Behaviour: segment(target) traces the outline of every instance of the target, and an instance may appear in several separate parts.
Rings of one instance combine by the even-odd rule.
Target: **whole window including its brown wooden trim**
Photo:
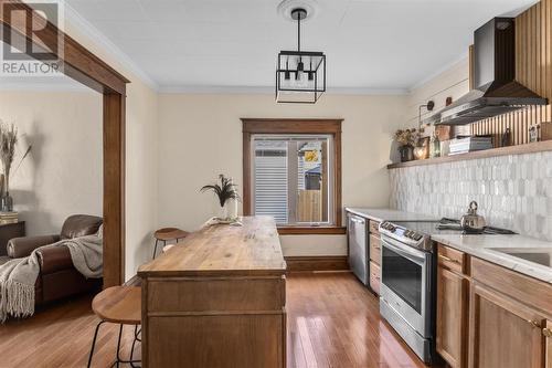
[[[341,225],[340,120],[244,122],[244,213],[278,228]]]

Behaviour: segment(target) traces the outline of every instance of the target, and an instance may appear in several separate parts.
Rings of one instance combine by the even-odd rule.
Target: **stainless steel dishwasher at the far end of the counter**
[[[368,286],[368,220],[352,213],[347,218],[347,241],[349,243],[349,266],[354,275]]]

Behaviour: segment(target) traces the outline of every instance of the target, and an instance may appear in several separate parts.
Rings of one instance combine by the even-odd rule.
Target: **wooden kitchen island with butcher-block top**
[[[269,217],[205,227],[142,265],[144,367],[284,367],[285,272]]]

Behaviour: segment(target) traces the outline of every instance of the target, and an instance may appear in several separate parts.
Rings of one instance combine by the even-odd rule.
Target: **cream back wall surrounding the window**
[[[242,185],[242,117],[343,118],[342,202],[389,204],[391,138],[405,96],[326,95],[316,105],[276,104],[274,96],[161,94],[159,223],[198,229],[217,213],[199,189],[225,174]],[[346,254],[343,235],[282,236],[286,255]]]

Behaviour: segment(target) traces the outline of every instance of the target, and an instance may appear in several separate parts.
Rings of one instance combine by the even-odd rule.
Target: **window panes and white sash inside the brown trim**
[[[254,214],[279,224],[330,224],[331,168],[327,135],[253,135]]]

